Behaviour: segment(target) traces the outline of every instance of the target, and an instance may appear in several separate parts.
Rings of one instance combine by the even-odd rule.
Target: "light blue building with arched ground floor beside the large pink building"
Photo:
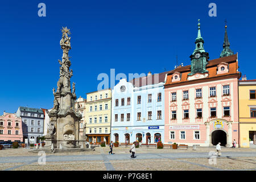
[[[164,143],[164,83],[168,72],[126,79],[112,90],[111,140]]]

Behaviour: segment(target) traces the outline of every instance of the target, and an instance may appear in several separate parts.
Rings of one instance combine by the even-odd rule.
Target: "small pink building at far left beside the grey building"
[[[0,116],[0,141],[23,142],[22,119],[16,114],[3,113]]]

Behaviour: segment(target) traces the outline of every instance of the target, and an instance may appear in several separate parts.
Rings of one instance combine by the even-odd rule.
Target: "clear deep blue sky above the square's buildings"
[[[46,4],[46,17],[38,4]],[[217,17],[208,16],[209,3]],[[71,29],[69,51],[77,97],[97,90],[100,73],[152,73],[190,64],[197,19],[205,51],[216,59],[222,51],[224,21],[230,48],[238,52],[242,74],[255,75],[256,1],[1,1],[0,114],[19,106],[51,108],[59,78],[61,27]],[[116,82],[117,83],[117,82]]]

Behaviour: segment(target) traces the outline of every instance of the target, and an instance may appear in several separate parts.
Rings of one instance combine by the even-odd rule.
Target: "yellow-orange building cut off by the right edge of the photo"
[[[239,83],[239,117],[241,147],[256,147],[256,80]]]

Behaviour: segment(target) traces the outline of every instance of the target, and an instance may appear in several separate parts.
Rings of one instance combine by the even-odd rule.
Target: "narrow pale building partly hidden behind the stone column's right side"
[[[83,133],[83,129],[85,126],[85,104],[86,104],[86,99],[82,98],[81,96],[76,100],[75,103],[75,110],[78,110],[80,114],[82,114],[82,119],[79,123],[79,134],[80,136]]]

